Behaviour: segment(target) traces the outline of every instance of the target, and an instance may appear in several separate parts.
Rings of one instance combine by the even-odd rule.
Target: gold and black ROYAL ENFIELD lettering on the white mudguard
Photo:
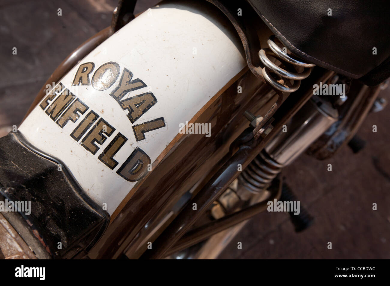
[[[92,62],[81,64],[73,79],[72,86],[92,86],[97,91],[115,86],[110,96],[124,112],[128,111],[126,115],[137,142],[145,139],[145,133],[165,126],[163,117],[137,124],[137,120],[157,103],[157,99],[152,92],[123,99],[127,93],[147,87],[145,82],[138,78],[133,79],[133,73],[127,68],[123,68],[120,75],[121,68],[118,63],[113,61],[101,65],[90,78],[94,68],[95,64]],[[39,106],[60,128],[64,128],[69,121],[77,123],[78,125],[71,132],[70,137],[91,154],[99,153],[98,159],[111,170],[117,167],[119,162],[114,160],[113,157],[128,138],[121,132],[112,136],[115,128],[82,102],[64,84],[59,82]],[[111,141],[103,150],[101,146],[106,140]],[[149,156],[137,147],[122,162],[117,174],[127,181],[138,181],[147,174],[150,163]]]

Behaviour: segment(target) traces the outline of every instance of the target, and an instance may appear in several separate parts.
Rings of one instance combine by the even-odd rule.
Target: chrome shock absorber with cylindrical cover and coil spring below
[[[246,167],[238,179],[251,192],[259,192],[307,147],[337,121],[339,113],[332,105],[313,95],[287,123],[287,132],[278,133]]]

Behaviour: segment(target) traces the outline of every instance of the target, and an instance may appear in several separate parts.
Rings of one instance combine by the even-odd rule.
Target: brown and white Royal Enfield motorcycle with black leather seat
[[[0,138],[2,253],[216,258],[262,211],[308,228],[282,169],[359,151],[390,76],[388,4],[327,4],[120,0]]]

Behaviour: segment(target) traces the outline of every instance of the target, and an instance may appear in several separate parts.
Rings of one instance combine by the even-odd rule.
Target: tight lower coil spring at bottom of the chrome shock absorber
[[[264,189],[280,173],[283,167],[263,150],[241,172],[238,179],[248,191],[257,193]]]

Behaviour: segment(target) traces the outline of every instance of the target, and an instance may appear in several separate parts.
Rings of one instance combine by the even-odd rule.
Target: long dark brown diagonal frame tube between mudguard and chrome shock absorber
[[[255,139],[250,145],[241,146],[240,149],[230,158],[230,160],[218,170],[218,172],[207,182],[206,186],[197,194],[193,200],[188,202],[183,211],[176,217],[176,219],[165,229],[160,237],[154,242],[154,250],[144,254],[143,258],[159,259],[166,256],[169,249],[174,246],[177,241],[190,229],[195,221],[205,212],[208,207],[225,191],[230,183],[239,175],[237,164],[240,163],[242,168],[245,168],[257,154],[266,146],[266,144],[275,137],[282,126],[292,116],[299,111],[299,109],[312,96],[312,82],[326,81],[332,76],[333,72],[324,71],[318,68],[310,80],[302,82],[302,88],[290,95],[282,104],[282,106],[275,113],[277,121],[274,123],[273,130],[264,138]],[[216,192],[215,190],[218,189]],[[192,204],[196,202],[199,206],[196,212],[191,211]],[[229,225],[234,225],[241,222],[240,216],[229,217]],[[209,233],[210,235],[214,234]],[[208,235],[202,233],[204,237]],[[196,238],[196,233],[193,237]],[[190,239],[191,240],[191,239]]]

